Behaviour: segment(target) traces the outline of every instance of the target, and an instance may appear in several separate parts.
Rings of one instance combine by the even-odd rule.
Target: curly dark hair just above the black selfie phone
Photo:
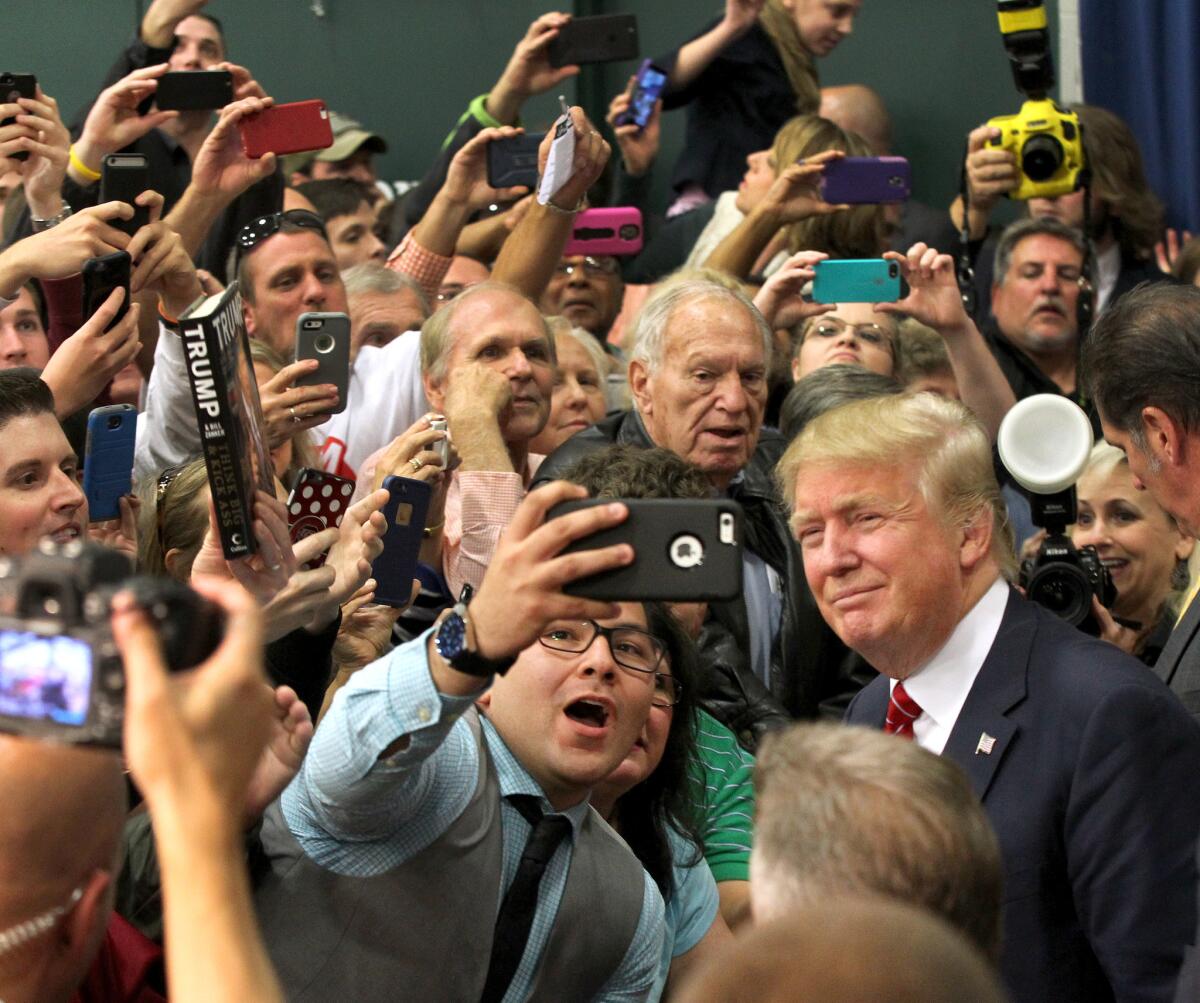
[[[562,473],[593,498],[712,498],[698,467],[658,446],[611,445],[581,456]]]

